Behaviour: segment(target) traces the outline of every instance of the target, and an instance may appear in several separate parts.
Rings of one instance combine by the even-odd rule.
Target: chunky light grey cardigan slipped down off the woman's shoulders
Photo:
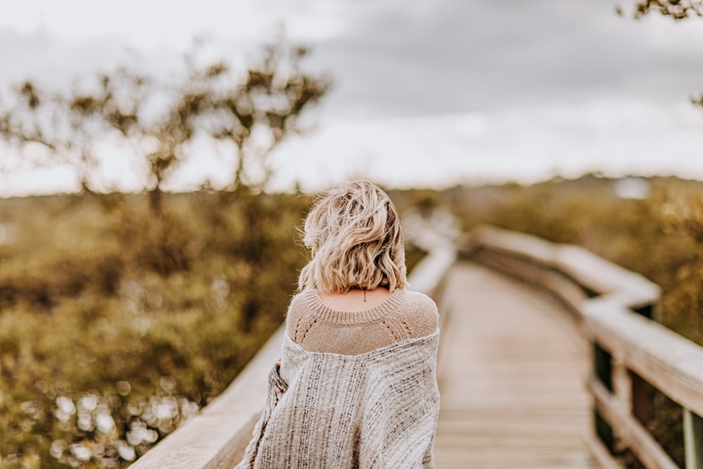
[[[237,469],[432,468],[439,330],[370,352],[309,352],[288,336]]]

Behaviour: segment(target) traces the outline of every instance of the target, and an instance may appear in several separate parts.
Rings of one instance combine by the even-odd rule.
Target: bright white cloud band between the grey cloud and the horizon
[[[703,178],[703,118],[690,106],[636,101],[437,117],[340,119],[276,153],[282,188],[349,176],[389,186],[531,183],[584,172]]]

